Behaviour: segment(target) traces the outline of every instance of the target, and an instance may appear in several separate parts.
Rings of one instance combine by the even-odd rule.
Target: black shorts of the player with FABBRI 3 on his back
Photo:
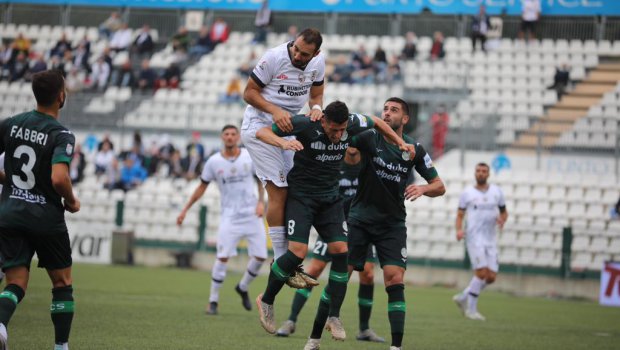
[[[67,231],[54,234],[35,234],[0,229],[0,255],[2,270],[25,266],[30,269],[34,253],[39,258],[39,267],[58,270],[70,267],[71,243]]]

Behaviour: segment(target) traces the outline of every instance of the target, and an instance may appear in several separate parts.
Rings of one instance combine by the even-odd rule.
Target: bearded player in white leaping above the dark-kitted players
[[[308,116],[313,121],[321,118],[325,76],[325,56],[320,51],[322,42],[321,33],[308,28],[294,41],[267,50],[252,71],[243,93],[248,106],[243,115],[241,138],[254,161],[256,175],[267,189],[266,216],[275,259],[286,253],[288,247],[284,234],[284,205],[286,176],[293,167],[294,152],[261,142],[256,132],[273,123],[284,132],[292,131],[291,115],[298,114],[306,103],[310,107]],[[297,288],[308,287],[308,283],[318,284],[305,274],[297,276],[303,279],[289,279],[287,283]]]

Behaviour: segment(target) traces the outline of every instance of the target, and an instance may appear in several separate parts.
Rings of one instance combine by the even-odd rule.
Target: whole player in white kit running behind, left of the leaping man
[[[248,241],[250,261],[235,291],[241,296],[246,310],[252,310],[248,296],[248,286],[258,275],[260,267],[267,259],[267,236],[261,219],[264,212],[264,189],[258,183],[258,198],[254,192],[254,166],[248,151],[239,147],[239,130],[236,126],[226,125],[222,129],[224,149],[214,154],[200,175],[198,185],[189,201],[179,214],[177,224],[183,224],[185,215],[191,206],[207,190],[211,181],[220,189],[222,218],[217,233],[217,259],[211,271],[211,295],[207,313],[217,314],[219,291],[226,277],[226,263],[237,255],[237,244],[245,238]]]

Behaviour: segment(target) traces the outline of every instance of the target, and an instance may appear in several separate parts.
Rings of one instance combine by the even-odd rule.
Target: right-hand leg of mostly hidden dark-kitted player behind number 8
[[[370,328],[370,315],[372,313],[372,305],[375,290],[375,262],[377,261],[376,250],[373,245],[368,247],[368,256],[364,271],[360,271],[360,287],[357,292],[358,308],[359,308],[359,330],[356,339],[363,341],[373,341],[383,343],[385,339],[379,337]]]

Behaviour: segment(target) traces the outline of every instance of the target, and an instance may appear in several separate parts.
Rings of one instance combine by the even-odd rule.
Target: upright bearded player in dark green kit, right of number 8
[[[349,212],[349,272],[364,268],[368,245],[373,244],[388,294],[390,350],[401,349],[405,329],[403,278],[407,266],[407,213],[404,202],[422,195],[441,196],[446,191],[424,148],[403,136],[403,127],[409,120],[408,109],[405,101],[392,97],[385,102],[381,117],[406,142],[415,144],[415,157],[403,153],[391,140],[372,131],[359,135],[352,142],[362,153],[362,170]],[[414,169],[428,184],[410,183]]]

